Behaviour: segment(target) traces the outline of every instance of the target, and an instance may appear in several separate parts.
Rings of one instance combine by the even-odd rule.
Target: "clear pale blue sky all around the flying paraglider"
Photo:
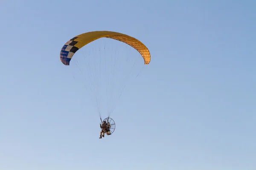
[[[255,0],[1,0],[0,23],[0,170],[256,169]],[[94,30],[152,57],[104,139],[59,59]]]

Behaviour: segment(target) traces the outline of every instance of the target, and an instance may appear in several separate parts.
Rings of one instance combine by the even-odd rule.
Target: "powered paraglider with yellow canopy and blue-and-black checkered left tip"
[[[112,41],[105,43],[103,48],[95,50],[96,42],[103,38],[112,39]],[[117,48],[113,48],[112,44],[117,42],[128,45],[130,51],[133,48],[134,52],[139,52],[140,57],[137,57],[138,54],[130,57],[128,55],[130,51],[127,54],[121,54],[123,50],[117,51]],[[100,119],[102,118],[102,105],[108,108],[108,111],[106,111],[108,117],[104,120],[110,123],[110,130],[113,133],[115,122],[109,116],[113,112],[131,74],[135,72],[135,78],[140,74],[141,69],[138,71],[135,67],[142,64],[148,65],[151,61],[151,55],[148,48],[134,37],[113,31],[91,31],[73,37],[63,45],[60,52],[61,62],[64,65],[70,65],[74,54],[77,54],[82,47],[88,48],[90,45],[99,56],[91,54],[90,50],[87,50],[84,58],[77,58],[80,61],[75,62],[74,65],[79,68],[78,72],[82,75],[84,87],[87,89],[93,103],[96,104]],[[109,55],[106,52],[108,45],[112,45],[109,50],[111,54]],[[103,52],[101,53],[101,51]],[[143,59],[144,63],[142,61],[137,62],[140,59]]]

